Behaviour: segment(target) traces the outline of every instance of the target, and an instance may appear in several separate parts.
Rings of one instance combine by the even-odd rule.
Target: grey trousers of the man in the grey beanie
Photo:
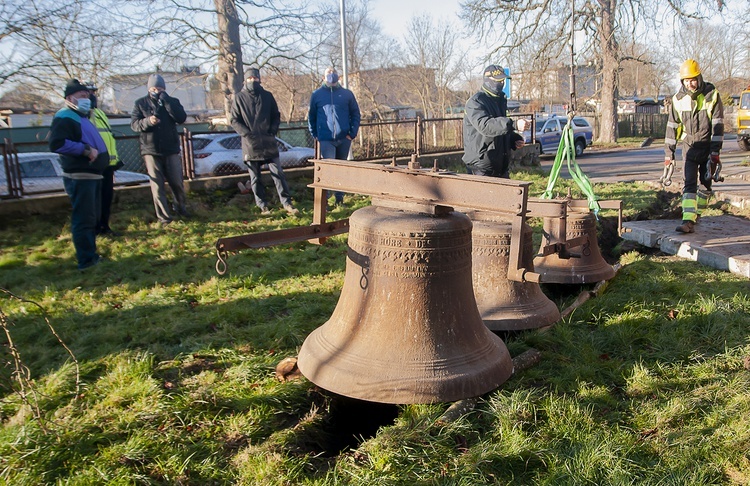
[[[174,197],[174,208],[185,212],[185,186],[182,178],[182,160],[180,154],[173,155],[144,155],[146,171],[151,179],[151,198],[154,200],[156,219],[162,223],[172,221],[169,214],[169,202],[164,183],[169,184]]]

